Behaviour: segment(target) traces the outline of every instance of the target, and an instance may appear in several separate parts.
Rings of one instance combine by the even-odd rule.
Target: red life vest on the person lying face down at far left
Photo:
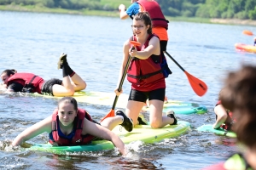
[[[43,82],[42,77],[38,77],[32,73],[15,73],[12,77],[9,77],[7,86],[11,82],[19,82],[24,88],[32,88],[32,93],[37,92],[38,85]],[[39,94],[41,92],[38,92]]]

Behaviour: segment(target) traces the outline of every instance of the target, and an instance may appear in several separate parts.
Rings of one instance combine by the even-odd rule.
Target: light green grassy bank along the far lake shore
[[[95,16],[108,16],[119,17],[118,6],[120,0],[102,0],[102,4],[107,4],[110,9],[108,10],[94,10],[90,8],[81,9],[67,9],[67,8],[48,8],[42,3],[35,5],[24,5],[23,3],[16,4],[10,3],[6,5],[0,5],[2,11],[22,11],[22,12],[37,12],[37,13],[53,13],[53,14],[81,14],[81,15],[95,15]],[[125,1],[124,4],[128,7],[130,1]],[[113,10],[117,7],[116,10]],[[196,23],[212,23],[212,24],[229,24],[229,25],[248,25],[256,26],[256,20],[239,20],[239,19],[217,19],[217,18],[201,18],[201,17],[188,17],[188,16],[166,16],[167,20],[172,21],[186,21]]]

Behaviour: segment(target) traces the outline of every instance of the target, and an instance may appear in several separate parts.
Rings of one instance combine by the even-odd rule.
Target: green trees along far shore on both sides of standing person
[[[256,0],[157,0],[157,2],[167,16],[256,20]],[[7,4],[89,10],[118,8],[118,5],[102,4],[101,0],[0,0],[0,5]]]

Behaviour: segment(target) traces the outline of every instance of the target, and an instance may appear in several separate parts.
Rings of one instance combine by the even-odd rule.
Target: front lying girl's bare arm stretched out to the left
[[[38,136],[41,133],[51,132],[51,121],[52,116],[45,118],[43,121],[37,122],[36,124],[32,125],[32,127],[26,128],[22,133],[20,133],[13,141],[13,146],[18,146],[25,142],[28,139],[32,139]]]

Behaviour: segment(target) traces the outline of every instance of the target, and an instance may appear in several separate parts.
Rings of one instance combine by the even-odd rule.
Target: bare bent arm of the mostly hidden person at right
[[[228,114],[223,105],[216,105],[214,108],[214,112],[217,116],[217,120],[212,127],[218,128],[226,121],[226,119],[228,118]]]

